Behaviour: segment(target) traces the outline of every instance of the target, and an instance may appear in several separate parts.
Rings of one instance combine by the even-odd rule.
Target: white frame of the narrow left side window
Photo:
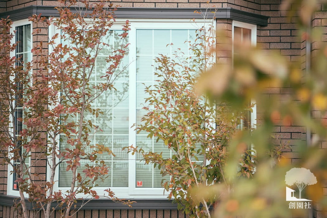
[[[28,21],[28,19],[24,19],[24,20],[20,20],[20,21],[14,21],[12,26],[11,26],[11,29],[10,29],[10,34],[14,34],[14,31],[16,30],[16,27],[18,26],[24,26],[24,25],[28,25],[30,24],[31,26],[31,47],[33,47],[33,34],[32,34],[32,31],[33,31],[33,24],[31,21]],[[16,43],[16,34],[15,36],[11,39],[11,43]],[[12,51],[10,52],[10,57],[14,57],[16,56],[16,49],[15,51]],[[31,52],[31,58],[33,58],[32,56],[32,52]],[[10,116],[9,119],[12,121],[12,117]],[[10,122],[10,127],[12,125],[12,122]],[[31,159],[29,158],[29,165],[31,164]],[[8,164],[8,184],[7,184],[7,194],[8,195],[13,195],[13,196],[19,196],[19,191],[18,190],[13,190],[12,189],[12,184],[14,182],[14,179],[13,179],[13,173],[10,173],[11,171],[13,171],[13,168],[10,164]],[[24,196],[25,197],[28,197],[28,194],[24,193]]]

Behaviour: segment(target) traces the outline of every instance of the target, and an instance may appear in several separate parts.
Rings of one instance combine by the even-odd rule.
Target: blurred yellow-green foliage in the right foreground
[[[286,57],[271,50],[234,42],[238,54],[234,55],[233,66],[215,65],[199,77],[198,93],[206,93],[211,100],[229,102],[235,109],[254,100],[260,112],[256,128],[242,131],[230,141],[230,155],[224,166],[228,182],[195,191],[206,194],[205,197],[221,196],[216,203],[215,217],[308,217],[310,210],[291,210],[285,201],[285,174],[295,166],[310,169],[318,180],[317,184],[306,187],[302,196],[318,203],[319,210],[327,210],[327,197],[323,195],[327,149],[321,149],[322,142],[327,140],[326,123],[312,116],[314,113],[324,118],[327,109],[327,47],[322,42],[326,27],[311,28],[312,17],[316,13],[326,14],[326,11],[316,12],[325,7],[325,2],[318,0],[286,0],[281,6],[292,19],[297,19],[299,42],[319,48],[308,53],[307,61],[311,64],[307,62],[307,68],[301,66],[303,59],[288,62]],[[269,87],[287,87],[287,93],[271,96],[266,92]],[[269,140],[274,126],[302,126],[303,133],[311,136],[308,142],[298,140],[292,146],[301,158],[296,165],[283,158],[272,162],[265,155],[275,146]],[[258,163],[251,179],[238,179],[235,171],[240,156],[237,148],[243,143],[252,144],[257,152]],[[286,157],[292,156],[286,154]]]

